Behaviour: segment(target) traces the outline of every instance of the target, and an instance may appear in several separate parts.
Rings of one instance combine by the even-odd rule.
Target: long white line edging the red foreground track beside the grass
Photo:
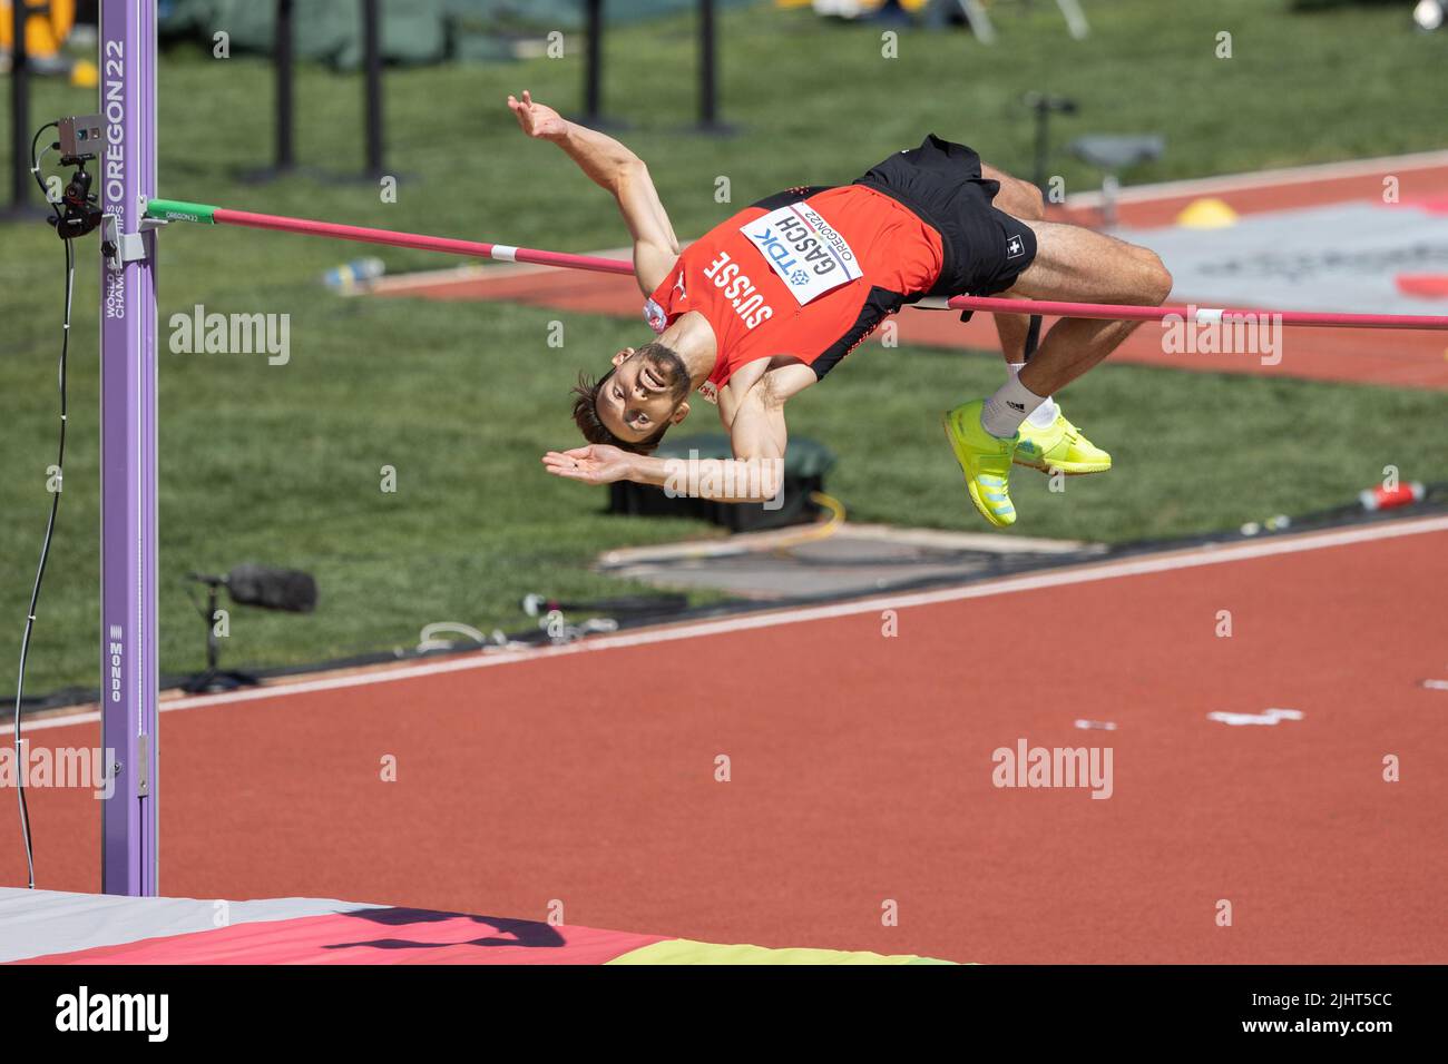
[[[193,698],[178,698],[162,702],[161,712],[178,709],[200,709],[216,705],[237,705],[240,702],[255,702],[258,699],[287,698],[290,695],[310,695],[319,691],[340,691],[345,688],[361,688],[369,683],[392,683],[410,680],[421,676],[440,676],[443,673],[465,672],[471,669],[491,669],[501,664],[517,664],[518,662],[537,662],[547,657],[562,657],[568,654],[597,654],[623,647],[640,647],[653,643],[672,643],[675,640],[699,638],[704,636],[724,636],[736,631],[752,631],[754,628],[773,628],[783,624],[802,624],[807,621],[824,621],[837,617],[854,617],[859,614],[873,614],[880,609],[911,609],[915,607],[940,605],[943,602],[960,602],[972,598],[988,598],[992,595],[1012,595],[1022,591],[1040,591],[1043,588],[1064,588],[1074,583],[1095,583],[1098,580],[1112,580],[1122,576],[1144,576],[1150,573],[1176,572],[1179,569],[1196,569],[1208,565],[1224,565],[1226,562],[1247,562],[1257,557],[1273,557],[1277,554],[1299,554],[1309,550],[1325,550],[1328,547],[1345,547],[1355,543],[1373,543],[1377,540],[1393,540],[1403,536],[1423,536],[1428,533],[1448,531],[1448,517],[1423,517],[1415,520],[1373,524],[1363,528],[1345,528],[1341,531],[1303,533],[1300,536],[1286,536],[1273,540],[1253,543],[1237,543],[1231,546],[1206,546],[1190,550],[1177,550],[1164,554],[1150,554],[1147,557],[1124,559],[1121,562],[1096,562],[1070,569],[1053,569],[1044,573],[1025,576],[1006,576],[998,580],[983,580],[957,588],[940,588],[937,591],[921,591],[902,595],[875,595],[866,599],[850,602],[833,602],[820,607],[796,607],[769,612],[749,614],[744,617],[728,617],[717,621],[698,621],[676,627],[646,628],[643,631],[621,633],[618,636],[604,636],[601,638],[584,640],[562,647],[539,647],[529,650],[511,650],[500,654],[453,657],[445,662],[430,662],[426,664],[403,666],[397,669],[374,669],[346,676],[326,676],[300,683],[284,683],[274,688],[253,688],[226,695],[197,695]],[[61,728],[72,724],[87,724],[100,719],[98,711],[83,711],[68,717],[49,717],[25,724],[25,734],[42,731],[45,728]],[[12,724],[0,727],[0,735],[10,734]]]

